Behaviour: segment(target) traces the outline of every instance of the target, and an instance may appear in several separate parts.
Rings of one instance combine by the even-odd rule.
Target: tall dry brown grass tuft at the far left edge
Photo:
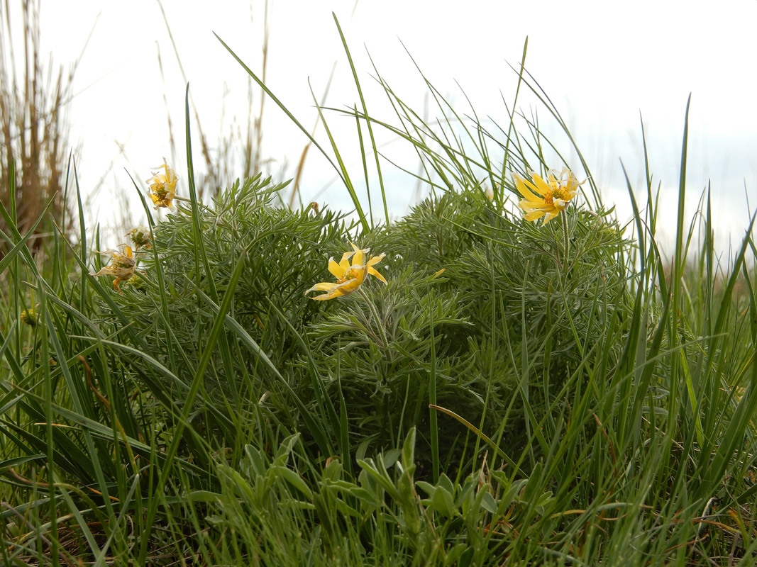
[[[9,0],[0,5],[0,200],[11,210],[15,187],[17,227],[21,234],[34,225],[52,200],[49,216],[36,228],[30,248],[39,249],[52,222],[70,228],[64,200],[67,173],[68,103],[76,64],[68,71],[52,58],[40,57],[39,0],[21,0],[20,21],[13,20]],[[20,33],[20,38],[17,39]],[[15,52],[22,48],[23,54]],[[11,164],[14,183],[11,183]],[[0,229],[8,226],[0,218]],[[0,256],[8,243],[0,242]]]

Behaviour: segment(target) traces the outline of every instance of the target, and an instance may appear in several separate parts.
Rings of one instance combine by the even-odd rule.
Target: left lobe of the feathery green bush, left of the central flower
[[[176,376],[192,375],[207,343],[210,329],[203,321],[213,313],[198,304],[198,290],[208,297],[223,296],[240,262],[231,316],[282,373],[298,354],[299,343],[288,332],[287,322],[301,328],[316,314],[316,305],[303,292],[322,277],[326,255],[344,247],[347,227],[329,211],[274,208],[271,203],[281,188],[269,179],[248,179],[220,194],[212,208],[200,209],[198,225],[210,272],[197,261],[195,227],[186,209],[168,215],[157,227],[152,249],[156,254],[145,251],[139,269],[154,283],[159,264],[168,290],[167,317],[151,287],[131,287],[115,298],[119,310],[129,311],[136,333],[161,353],[158,362],[169,366],[169,345],[180,349],[172,368]],[[273,384],[259,361],[240,351],[232,339],[228,348],[229,353],[219,347],[213,355],[204,388],[228,405],[229,412],[248,411],[249,401]]]

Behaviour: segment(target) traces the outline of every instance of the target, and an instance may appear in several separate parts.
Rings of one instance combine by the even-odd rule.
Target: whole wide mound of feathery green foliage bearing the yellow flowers
[[[431,445],[447,448],[437,457],[447,467],[459,465],[469,431],[445,417],[432,441],[429,403],[498,432],[519,450],[528,424],[536,426],[585,382],[582,345],[599,341],[609,318],[622,318],[631,305],[619,256],[624,242],[613,222],[570,212],[566,256],[564,235],[553,230],[559,225],[528,225],[471,189],[429,197],[397,225],[355,239],[387,255],[380,265],[386,287],[373,280],[360,293],[313,302],[304,291],[333,277],[326,259],[349,250],[352,228],[328,209],[273,206],[281,188],[260,178],[235,184],[199,209],[197,219],[179,206],[154,231],[151,249],[139,253],[140,277],[148,284],[136,280],[114,298],[154,349],[154,361],[170,366],[173,342],[180,352],[173,373],[192,376],[211,331],[202,321],[213,317],[198,293],[226,293],[240,270],[230,314],[290,389],[229,335],[217,344],[202,384],[226,419],[272,411],[288,430],[299,431],[306,426],[302,412],[318,415],[329,398],[347,423],[341,451],[372,454],[419,428],[425,470],[438,474]],[[207,262],[198,262],[197,225]],[[169,290],[170,325],[152,289],[155,262]],[[615,345],[603,344],[610,365],[617,364],[623,339],[617,333]],[[145,376],[154,361],[132,365]],[[156,393],[173,386],[164,378]],[[179,403],[183,394],[173,389],[173,395]],[[295,409],[292,396],[304,404]],[[195,426],[213,427],[199,414],[201,405],[192,412]],[[206,417],[219,419],[207,411]],[[333,447],[340,428],[332,423]],[[316,443],[313,457],[325,448]]]

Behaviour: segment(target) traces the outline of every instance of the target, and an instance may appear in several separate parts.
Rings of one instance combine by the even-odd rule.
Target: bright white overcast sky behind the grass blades
[[[669,201],[673,208],[669,224],[674,230],[689,93],[688,191],[693,206],[708,179],[712,180],[716,218],[724,231],[733,231],[734,240],[740,240],[746,226],[745,186],[752,209],[757,206],[755,0],[360,0],[354,14],[354,0],[269,2],[267,83],[308,129],[316,116],[308,80],[320,97],[335,61],[336,76],[327,104],[359,104],[332,11],[368,91],[369,110],[387,119],[391,110],[385,112],[385,96],[372,86],[366,49],[394,91],[419,112],[424,88],[402,44],[461,112],[468,109],[455,81],[479,116],[492,116],[504,125],[502,96],[511,102],[516,84],[507,62],[519,63],[528,36],[526,69],[565,116],[606,204],[618,205],[621,220],[629,208],[619,158],[634,186],[639,191],[643,188],[641,113],[651,170],[662,181],[665,203]],[[248,88],[245,71],[212,32],[260,73],[263,6],[260,0],[253,0],[252,7],[248,2],[164,0],[190,91],[211,142],[220,132],[222,112],[226,122],[232,116],[245,121]],[[76,73],[78,94],[71,118],[74,140],[83,147],[77,166],[85,191],[98,183],[115,160],[97,200],[98,220],[107,224],[111,215],[114,219],[122,216],[120,210],[111,211],[120,206],[110,200],[111,191],[132,187],[124,168],[137,180],[145,180],[150,168],[162,163],[161,156],[171,160],[167,113],[173,119],[179,149],[174,166],[182,178],[180,185],[185,181],[185,82],[156,0],[42,0],[42,48],[52,52],[56,63],[68,64],[78,57],[91,30]],[[165,81],[160,76],[158,51]],[[530,112],[528,106],[523,110]],[[330,123],[340,147],[357,146],[354,122],[331,116]],[[273,171],[283,163],[296,163],[304,135],[272,101],[266,101],[263,129],[263,153],[278,163]],[[326,143],[322,129],[316,137]],[[120,156],[120,144],[127,160]],[[567,144],[562,149],[567,151]],[[362,178],[357,155],[353,159],[353,175]],[[200,163],[195,141],[195,166]],[[305,174],[306,201],[334,175],[314,151]],[[391,209],[401,215],[414,204],[409,199],[414,184],[400,181],[399,176],[391,180],[400,185]],[[139,215],[136,195],[133,200]],[[338,184],[318,200],[351,209],[347,192]]]

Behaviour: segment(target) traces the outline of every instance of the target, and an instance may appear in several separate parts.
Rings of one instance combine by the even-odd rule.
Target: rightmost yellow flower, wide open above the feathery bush
[[[533,182],[515,172],[511,174],[516,182],[516,189],[525,197],[518,206],[525,212],[523,218],[527,221],[544,217],[545,225],[568,206],[568,201],[575,197],[578,186],[586,181],[584,179],[579,183],[567,167],[563,167],[560,172],[550,169],[547,181],[544,181],[536,172],[528,172],[528,174],[531,175]]]

